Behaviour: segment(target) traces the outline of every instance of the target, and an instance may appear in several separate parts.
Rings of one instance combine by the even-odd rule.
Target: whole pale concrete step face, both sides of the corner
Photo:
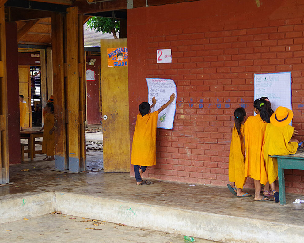
[[[92,194],[92,193],[91,193]],[[203,203],[203,202],[202,202]],[[279,222],[275,211],[274,219],[265,211],[262,202],[252,202],[264,211],[265,218],[254,218],[255,211],[248,211],[248,217],[190,210],[176,205],[157,205],[156,203],[119,200],[88,193],[44,192],[39,194],[18,194],[13,198],[0,200],[0,222],[11,222],[23,217],[30,218],[62,211],[74,215],[129,226],[158,230],[168,233],[192,235],[226,243],[269,243],[302,242],[304,225]],[[269,202],[268,202],[269,203]],[[254,205],[256,206],[256,205]],[[203,207],[202,207],[203,208]],[[267,217],[266,217],[267,215]],[[288,217],[288,216],[287,216]],[[302,218],[302,215],[299,215]]]

